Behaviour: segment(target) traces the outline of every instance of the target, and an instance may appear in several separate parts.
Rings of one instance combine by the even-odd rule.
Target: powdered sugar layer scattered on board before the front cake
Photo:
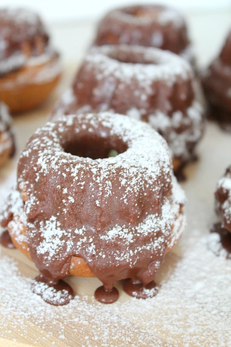
[[[161,276],[156,297],[126,297],[113,305],[102,305],[82,295],[64,307],[48,305],[31,293],[31,279],[18,272],[17,263],[1,255],[2,336],[11,336],[9,322],[15,320],[14,329],[24,326],[20,339],[28,337],[33,324],[42,335],[48,332],[48,341],[54,335],[68,346],[76,346],[77,339],[86,347],[118,346],[118,341],[120,346],[181,346],[182,341],[184,346],[230,346],[229,289],[225,283],[230,262],[209,252],[199,234],[199,230],[193,230],[182,258],[167,256],[165,278]],[[46,344],[44,340],[45,346],[52,346],[48,341]],[[31,342],[40,346],[41,340]]]

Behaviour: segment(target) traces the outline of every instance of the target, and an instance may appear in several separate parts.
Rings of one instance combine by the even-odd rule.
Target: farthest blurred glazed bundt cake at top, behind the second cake
[[[110,11],[99,23],[94,45],[128,44],[169,50],[195,65],[187,27],[170,7],[137,5]]]

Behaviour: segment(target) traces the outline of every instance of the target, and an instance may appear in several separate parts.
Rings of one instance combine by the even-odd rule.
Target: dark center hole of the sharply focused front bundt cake
[[[127,144],[117,136],[82,136],[64,144],[64,152],[83,158],[105,159],[127,150]]]

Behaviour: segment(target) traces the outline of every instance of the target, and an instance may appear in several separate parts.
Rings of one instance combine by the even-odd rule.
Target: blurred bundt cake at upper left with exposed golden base
[[[29,110],[59,81],[59,54],[41,19],[26,9],[0,9],[0,35],[0,99],[11,112]]]

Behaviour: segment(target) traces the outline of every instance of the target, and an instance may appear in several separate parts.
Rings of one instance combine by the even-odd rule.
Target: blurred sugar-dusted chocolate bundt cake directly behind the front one
[[[63,112],[110,110],[148,122],[166,139],[177,172],[192,159],[204,128],[194,82],[188,62],[174,53],[128,45],[94,47],[52,119]]]

